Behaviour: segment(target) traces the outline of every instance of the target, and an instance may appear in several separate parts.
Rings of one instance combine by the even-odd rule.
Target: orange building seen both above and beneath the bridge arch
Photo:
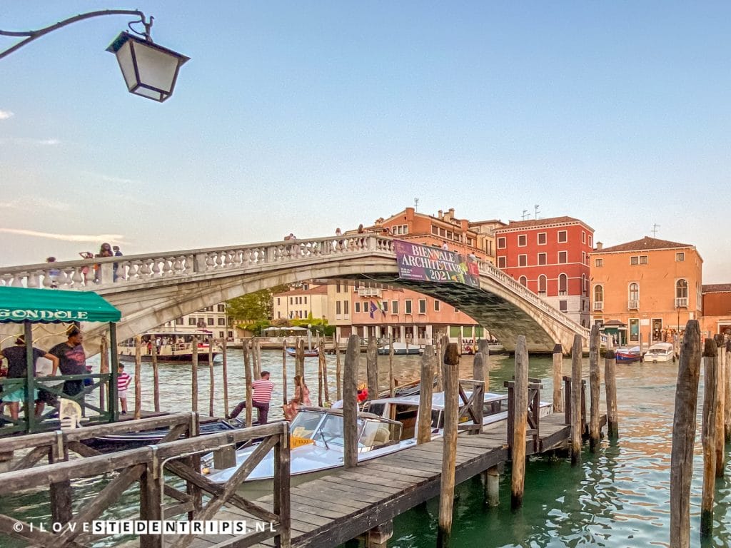
[[[450,251],[474,254],[483,261],[495,262],[493,229],[503,227],[497,220],[469,222],[455,218],[455,210],[441,210],[436,216],[406,208],[389,218],[379,218],[363,232],[381,232],[423,246],[446,247]],[[346,234],[357,232],[351,230]],[[445,302],[409,289],[382,289],[361,282],[351,293],[349,305],[351,326],[338,326],[338,337],[352,333],[361,337],[373,335],[424,344],[434,337],[448,335],[465,341],[485,338],[485,330],[465,313]]]

